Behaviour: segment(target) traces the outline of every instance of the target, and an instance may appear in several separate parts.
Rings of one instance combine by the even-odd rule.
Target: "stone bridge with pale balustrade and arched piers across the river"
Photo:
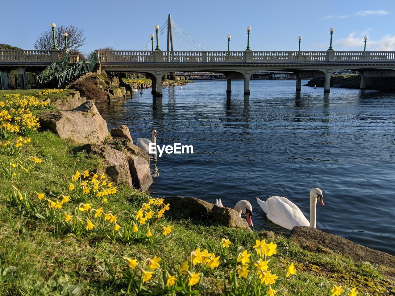
[[[173,72],[216,72],[227,79],[244,79],[244,94],[250,94],[250,77],[259,71],[295,73],[296,91],[302,77],[324,77],[324,92],[330,92],[334,72],[353,70],[361,73],[361,88],[366,77],[395,77],[393,51],[98,51],[90,61],[78,61],[66,51],[0,51],[0,71],[18,69],[41,71],[41,85],[57,79],[58,87],[76,75],[94,69],[147,73],[152,79],[152,94],[162,96],[162,77]],[[43,75],[43,73],[45,75]],[[40,76],[39,75],[39,76]]]

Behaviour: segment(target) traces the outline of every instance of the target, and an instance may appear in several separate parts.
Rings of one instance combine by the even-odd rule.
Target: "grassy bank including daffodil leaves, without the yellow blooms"
[[[6,102],[4,94],[10,92],[0,91],[0,101]],[[19,94],[23,93],[33,94],[30,90],[19,91]],[[51,108],[42,106],[30,109],[34,116]],[[0,107],[0,111],[4,109],[6,106]],[[18,136],[13,135],[8,141]],[[224,294],[225,281],[228,292],[232,285],[234,290],[240,291],[246,280],[243,276],[237,279],[239,287],[236,289],[234,283],[229,281],[232,277],[229,273],[236,272],[238,254],[245,250],[252,254],[251,262],[258,260],[253,246],[256,240],[263,239],[277,245],[275,254],[267,253],[262,258],[269,261],[271,274],[278,276],[276,283],[271,285],[278,290],[276,295],[328,295],[333,285],[341,285],[346,295],[346,288],[354,287],[361,293],[359,295],[390,295],[395,292],[393,282],[385,279],[370,264],[354,262],[327,249],[321,249],[318,253],[301,249],[281,235],[269,238],[266,232],[248,233],[207,221],[162,218],[155,211],[164,208],[159,204],[160,200],[156,200],[158,205],[148,205],[156,214],[143,224],[141,219],[135,218],[135,211],[144,206],[143,203],[149,203],[148,193],[117,187],[116,193],[105,196],[106,201],[94,192],[84,193],[82,183],[85,179],[89,178],[89,182],[92,179],[100,180],[100,176],[94,176],[94,170],[103,166],[101,159],[85,153],[81,145],[63,141],[49,131],[32,132],[26,138],[30,142],[23,144],[15,155],[7,155],[5,146],[0,146],[0,167],[4,168],[0,174],[0,295],[125,295],[129,283],[130,287],[135,284],[139,287],[141,271],[138,267],[148,270],[149,262],[143,262],[154,256],[161,258],[160,268],[156,268],[152,279],[140,287],[162,291],[157,293],[161,294],[167,280],[165,273],[164,283],[161,284],[160,270],[177,275],[177,262],[190,259],[190,252],[198,247],[201,250],[207,248],[215,254],[214,257],[219,256],[218,266],[213,264],[212,269],[207,264],[198,263],[191,270],[196,275],[200,274],[198,283],[188,286],[189,276],[184,273],[171,289],[184,284],[185,294],[196,290],[202,295],[218,295]],[[34,163],[34,159],[41,162]],[[18,163],[21,165],[13,168],[12,164]],[[77,170],[87,170],[88,177],[79,176]],[[13,176],[14,173],[17,175]],[[70,189],[70,184],[74,184],[75,188]],[[13,189],[12,185],[17,189]],[[40,200],[42,193],[45,197]],[[60,203],[62,208],[52,208],[51,201],[58,202],[64,198],[62,195],[70,195],[70,201]],[[49,204],[46,199],[50,200]],[[87,203],[92,208],[85,211]],[[101,208],[104,213],[117,216],[118,221],[115,222],[120,229],[115,230],[116,223],[103,221],[104,214],[95,218],[97,210],[92,211],[93,208]],[[149,208],[146,208],[147,212]],[[73,216],[72,223],[66,221],[63,211]],[[79,225],[74,217],[83,219],[80,229],[73,229],[73,225]],[[87,219],[93,222],[93,229],[89,229]],[[130,222],[136,222],[139,230],[135,233],[131,231],[130,238],[126,238],[124,234]],[[165,236],[164,227],[168,226],[171,226],[171,233]],[[147,236],[148,233],[152,236]],[[231,242],[229,247],[222,246],[222,238]],[[138,267],[132,269],[122,257],[137,259]],[[292,262],[296,273],[285,278],[286,268]],[[254,267],[252,264],[250,266],[252,270]],[[247,277],[251,281],[256,279],[257,276],[255,279],[250,275]],[[171,289],[169,294],[173,291]],[[268,285],[265,289],[267,291]],[[130,289],[130,292],[134,294],[135,290]]]

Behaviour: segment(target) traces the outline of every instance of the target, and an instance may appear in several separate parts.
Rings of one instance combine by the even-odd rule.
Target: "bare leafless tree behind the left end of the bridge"
[[[63,33],[68,34],[67,45],[70,54],[79,54],[81,47],[85,44],[85,32],[76,26],[56,26],[55,39],[58,49],[66,49]],[[34,42],[34,48],[38,50],[49,50],[53,47],[53,34],[52,29],[41,32],[40,36]]]

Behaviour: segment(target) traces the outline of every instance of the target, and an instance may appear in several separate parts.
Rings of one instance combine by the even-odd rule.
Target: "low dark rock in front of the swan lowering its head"
[[[170,204],[169,215],[209,219],[228,227],[244,228],[248,232],[252,232],[246,219],[239,217],[237,212],[231,208],[216,206],[211,202],[193,197],[166,197],[165,203]]]

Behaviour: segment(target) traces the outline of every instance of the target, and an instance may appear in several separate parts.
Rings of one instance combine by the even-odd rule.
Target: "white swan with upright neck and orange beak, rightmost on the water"
[[[317,200],[325,206],[320,188],[313,188],[310,191],[310,222],[303,215],[302,211],[290,200],[282,196],[271,196],[266,201],[256,198],[267,219],[286,229],[292,230],[295,226],[316,227],[316,204]]]

